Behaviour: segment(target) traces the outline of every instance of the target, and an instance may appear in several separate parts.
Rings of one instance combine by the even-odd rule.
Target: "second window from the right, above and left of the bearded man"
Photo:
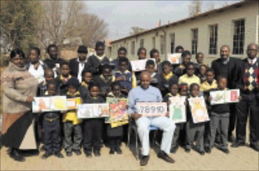
[[[209,51],[208,54],[217,54],[218,25],[209,26]]]

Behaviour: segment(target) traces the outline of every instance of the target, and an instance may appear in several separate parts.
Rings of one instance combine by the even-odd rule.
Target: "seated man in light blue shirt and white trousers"
[[[161,142],[160,151],[157,153],[159,158],[164,159],[167,162],[174,163],[175,160],[168,156],[170,152],[170,146],[172,136],[175,131],[175,124],[165,116],[159,117],[145,117],[136,113],[136,102],[162,102],[162,96],[159,89],[150,86],[150,74],[148,72],[142,72],[140,75],[140,86],[132,89],[128,94],[129,105],[128,113],[135,119],[138,126],[138,134],[142,143],[142,157],[140,159],[140,165],[146,165],[149,160],[149,126],[153,125],[163,131],[163,138]]]

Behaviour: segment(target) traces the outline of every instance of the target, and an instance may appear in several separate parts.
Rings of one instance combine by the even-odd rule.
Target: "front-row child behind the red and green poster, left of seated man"
[[[117,98],[117,99],[125,98],[125,96],[121,94],[121,86],[118,81],[112,82],[111,90],[112,92],[109,93],[107,97]],[[109,147],[110,147],[109,154],[114,154],[114,151],[116,151],[117,154],[121,154],[122,151],[119,148],[119,146],[121,144],[121,139],[123,136],[123,125],[112,128],[111,124],[106,124],[106,133],[107,133]]]

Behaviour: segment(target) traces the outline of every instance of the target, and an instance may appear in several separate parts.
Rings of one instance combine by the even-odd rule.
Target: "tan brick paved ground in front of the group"
[[[230,146],[230,144],[229,144]],[[7,148],[1,149],[1,170],[259,170],[258,152],[248,146],[231,148],[230,154],[225,154],[213,148],[210,154],[199,155],[192,150],[186,153],[180,148],[176,154],[170,154],[176,162],[167,163],[157,158],[155,145],[150,151],[150,160],[147,166],[140,166],[132,151],[122,144],[123,154],[108,154],[109,149],[102,148],[101,157],[86,158],[84,154],[59,159],[51,156],[47,160],[40,156],[26,157],[26,161],[16,162],[7,154]],[[134,147],[131,148],[134,150]],[[62,153],[65,154],[64,150]]]

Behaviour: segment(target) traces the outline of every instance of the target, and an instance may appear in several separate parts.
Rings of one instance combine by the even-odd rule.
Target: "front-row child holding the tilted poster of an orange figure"
[[[200,87],[197,83],[192,83],[190,86],[190,98],[198,97],[200,93]],[[204,134],[204,122],[194,123],[192,118],[191,109],[187,108],[187,122],[186,122],[186,145],[185,151],[189,153],[191,146],[196,138],[196,147],[200,155],[204,155],[203,145],[203,134]]]

